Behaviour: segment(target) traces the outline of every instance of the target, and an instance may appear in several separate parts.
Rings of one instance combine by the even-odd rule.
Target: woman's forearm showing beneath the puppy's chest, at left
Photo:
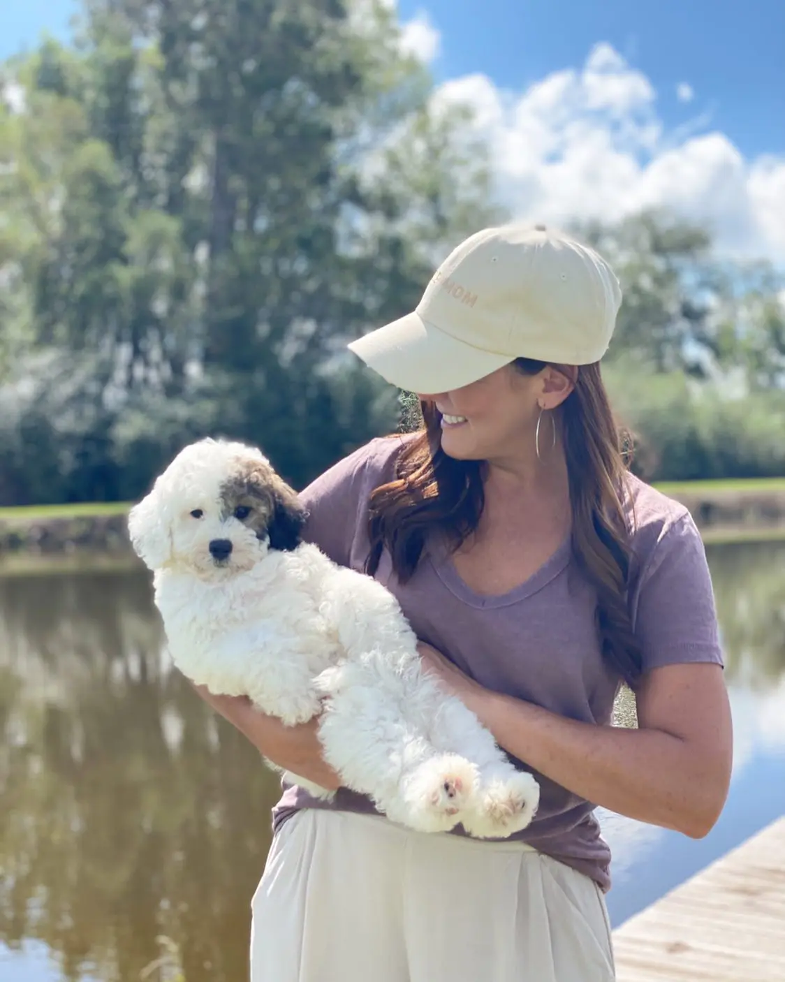
[[[213,695],[203,685],[196,692],[224,719],[247,736],[256,749],[278,767],[307,778],[330,791],[341,787],[335,771],[324,763],[316,736],[317,720],[302,726],[285,727],[274,716],[265,716],[245,696]]]

